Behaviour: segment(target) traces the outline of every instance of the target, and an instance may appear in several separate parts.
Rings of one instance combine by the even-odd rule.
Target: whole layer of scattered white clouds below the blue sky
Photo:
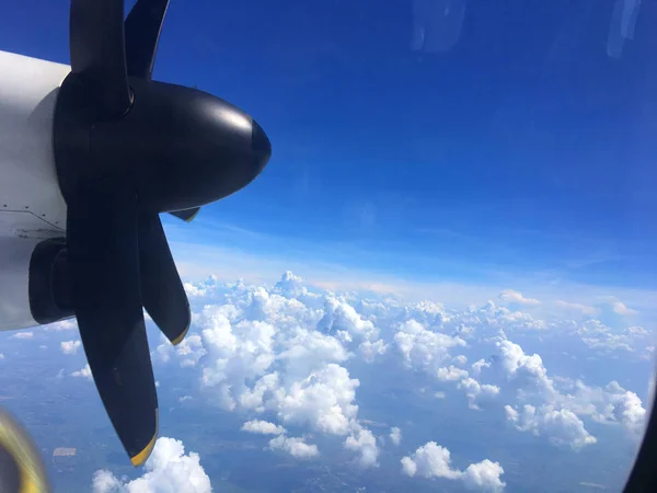
[[[361,398],[359,371],[365,367],[394,371],[408,391],[429,389],[427,394],[462,402],[464,422],[492,416],[506,422],[509,435],[532,435],[565,451],[599,446],[592,423],[619,426],[635,437],[645,425],[642,389],[625,389],[613,379],[589,383],[580,372],[564,374],[563,365],[554,370],[553,362],[564,354],[576,363],[646,357],[652,333],[630,319],[626,325],[606,324],[595,318],[602,308],[589,311],[563,301],[553,307],[554,314],[546,314],[546,303],[514,290],[466,309],[406,303],[312,289],[289,272],[273,287],[221,284],[210,277],[185,289],[193,308],[189,334],[176,347],[163,337],[153,346],[155,372],[163,366],[183,368],[195,386],[177,400],[240,414],[244,435],[264,435],[268,454],[324,460],[323,444],[333,440],[364,469],[376,471],[384,455],[393,455],[401,460],[403,477],[458,481],[471,490],[505,488],[509,480],[503,481],[502,459],[482,460],[474,450],[457,467],[449,449],[438,445],[448,442],[440,436],[412,438],[403,416],[377,429]],[[604,303],[618,317],[635,314],[619,302]],[[568,310],[578,318],[564,319]],[[74,355],[78,347],[73,341],[61,343],[65,354]],[[91,378],[88,366],[70,375]],[[173,457],[171,463],[184,462],[201,478],[198,457],[185,456],[182,444],[175,450],[166,455]],[[152,466],[149,478],[165,477],[164,469]],[[99,489],[137,491],[130,490],[137,488],[132,482],[106,471],[96,473],[94,488],[96,483]]]

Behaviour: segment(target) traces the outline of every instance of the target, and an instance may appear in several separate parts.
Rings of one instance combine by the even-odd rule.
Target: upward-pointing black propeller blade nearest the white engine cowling
[[[124,0],[71,0],[71,71],[82,78],[104,118],[124,115],[132,102],[123,18]]]

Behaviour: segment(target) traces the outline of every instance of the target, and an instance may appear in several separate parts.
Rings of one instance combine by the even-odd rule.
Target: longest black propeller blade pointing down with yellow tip
[[[69,200],[68,261],[91,372],[114,429],[140,466],[158,436],[158,397],[141,309],[137,204],[135,194],[113,185],[81,186]]]

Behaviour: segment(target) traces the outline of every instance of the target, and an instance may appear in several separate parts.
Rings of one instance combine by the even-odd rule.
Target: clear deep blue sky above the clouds
[[[419,280],[655,288],[657,8],[644,3],[614,60],[610,0],[471,0],[447,54],[411,50],[410,0],[173,0],[154,78],[241,106],[274,146],[189,234]],[[0,49],[67,62],[67,2],[9,2]]]

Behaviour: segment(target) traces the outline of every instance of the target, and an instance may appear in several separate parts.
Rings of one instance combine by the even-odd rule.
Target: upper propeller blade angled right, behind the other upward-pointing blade
[[[128,76],[150,79],[169,0],[138,0],[125,23]]]

